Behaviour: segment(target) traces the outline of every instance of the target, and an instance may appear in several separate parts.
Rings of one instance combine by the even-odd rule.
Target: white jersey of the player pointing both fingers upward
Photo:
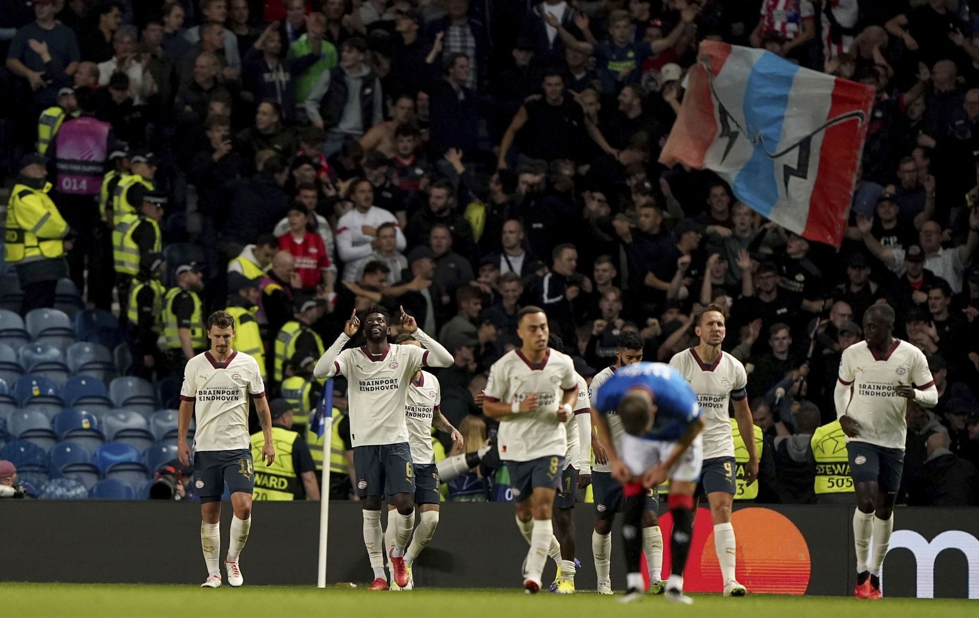
[[[337,373],[347,377],[350,442],[354,447],[408,442],[404,404],[408,385],[428,350],[389,344],[373,356],[364,348],[349,348],[334,361]]]

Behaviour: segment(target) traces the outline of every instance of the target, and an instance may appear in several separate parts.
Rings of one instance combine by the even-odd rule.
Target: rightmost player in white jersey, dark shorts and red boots
[[[857,496],[854,595],[859,598],[880,598],[880,567],[894,530],[894,500],[904,469],[908,401],[922,407],[938,403],[928,359],[893,331],[894,309],[871,305],[863,313],[863,341],[843,351],[833,392]]]

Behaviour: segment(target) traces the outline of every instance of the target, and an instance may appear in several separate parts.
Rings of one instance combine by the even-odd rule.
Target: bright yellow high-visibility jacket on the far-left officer
[[[14,185],[7,204],[4,261],[39,261],[65,255],[62,238],[68,223],[48,197],[51,183],[43,189]]]

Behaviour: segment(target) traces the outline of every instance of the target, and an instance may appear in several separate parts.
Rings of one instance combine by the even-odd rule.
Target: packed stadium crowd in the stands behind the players
[[[876,89],[842,247],[657,162],[704,39]],[[24,316],[64,309],[70,278],[77,309],[116,314],[160,407],[227,309],[303,430],[323,342],[376,303],[453,355],[442,411],[476,451],[494,434],[476,396],[520,307],[546,310],[590,379],[624,332],[647,360],[695,345],[695,314],[718,303],[762,447],[739,498],[852,501],[814,479],[846,462],[840,355],[886,302],[939,392],[909,403],[902,499],[979,505],[975,2],[0,0],[0,57],[0,296],[19,286],[7,309]],[[338,379],[339,412],[344,395]],[[344,428],[325,438],[335,499]],[[0,425],[0,444],[17,437]],[[447,499],[502,499],[495,471]]]

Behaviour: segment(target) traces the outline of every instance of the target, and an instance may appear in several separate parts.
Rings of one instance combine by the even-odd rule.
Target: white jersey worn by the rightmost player
[[[908,423],[905,411],[908,399],[894,392],[899,384],[926,389],[935,384],[928,369],[928,359],[909,344],[898,339],[886,356],[877,357],[866,342],[856,343],[843,351],[839,381],[851,386],[849,404],[836,410],[861,425],[860,436],[848,438],[885,449],[905,448]]]

